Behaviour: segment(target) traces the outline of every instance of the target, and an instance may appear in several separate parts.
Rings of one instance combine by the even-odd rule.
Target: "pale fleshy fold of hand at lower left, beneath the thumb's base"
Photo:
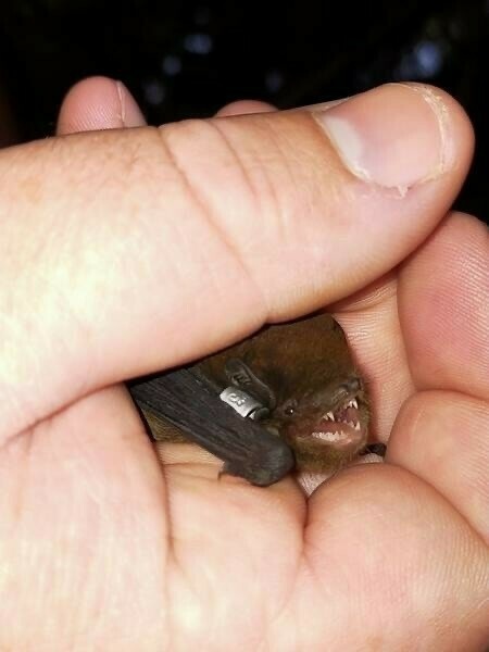
[[[0,594],[9,595],[1,640],[8,649],[67,650],[75,631],[87,632],[84,649],[105,648],[108,631],[121,637],[121,650],[165,640],[165,484],[125,393],[96,392],[2,448],[0,559],[10,570],[0,573]],[[101,601],[103,625],[87,629]],[[34,647],[33,632],[40,637]]]

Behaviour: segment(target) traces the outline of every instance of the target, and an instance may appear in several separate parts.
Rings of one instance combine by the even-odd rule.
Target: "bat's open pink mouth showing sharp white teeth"
[[[349,399],[336,410],[323,414],[311,436],[336,446],[350,446],[363,439],[356,399]]]

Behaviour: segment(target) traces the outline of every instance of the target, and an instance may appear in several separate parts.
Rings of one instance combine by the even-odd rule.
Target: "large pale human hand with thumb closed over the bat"
[[[329,113],[404,195],[309,111],[1,152],[0,647],[484,649],[487,231],[446,216],[472,133],[426,92]],[[161,467],[118,383],[334,302],[386,464],[308,502],[185,444]]]

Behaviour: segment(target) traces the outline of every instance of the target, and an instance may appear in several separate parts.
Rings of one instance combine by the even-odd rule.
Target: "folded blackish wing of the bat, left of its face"
[[[181,368],[129,384],[141,409],[148,408],[225,462],[224,472],[266,487],[294,465],[290,448],[224,403],[199,372]]]

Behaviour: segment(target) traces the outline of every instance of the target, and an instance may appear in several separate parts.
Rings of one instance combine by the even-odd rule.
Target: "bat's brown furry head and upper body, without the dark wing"
[[[229,372],[229,361],[238,363],[241,378]],[[235,386],[256,398],[268,410],[260,425],[291,447],[299,472],[331,475],[365,448],[367,398],[344,334],[328,314],[265,328],[196,368],[216,393]],[[154,411],[140,406],[156,440],[185,440]]]

